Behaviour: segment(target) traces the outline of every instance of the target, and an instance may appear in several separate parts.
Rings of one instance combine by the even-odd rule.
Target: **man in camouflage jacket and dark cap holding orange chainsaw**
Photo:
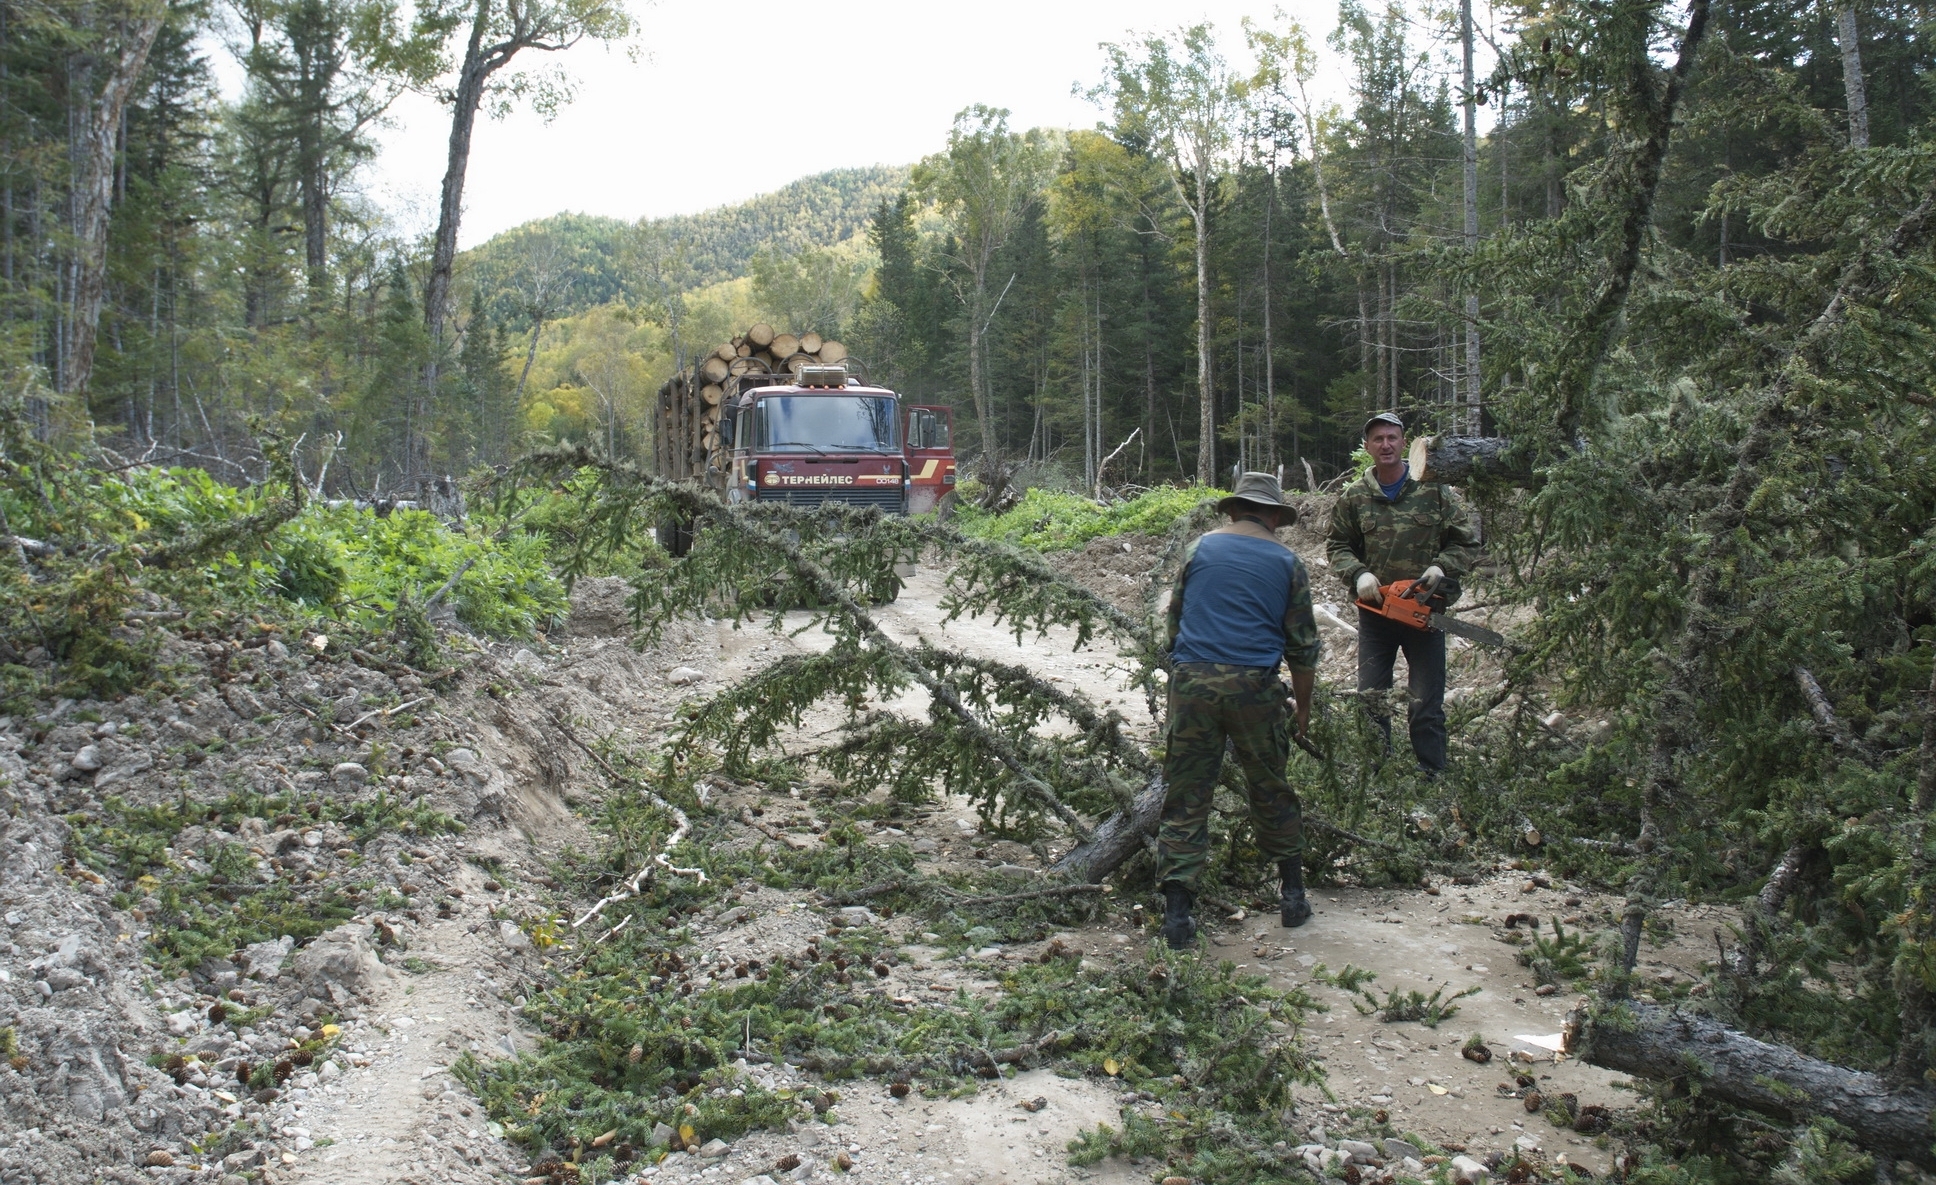
[[[1479,560],[1479,532],[1466,503],[1438,482],[1411,478],[1406,424],[1396,414],[1378,412],[1365,422],[1365,451],[1371,469],[1332,507],[1332,571],[1357,600],[1371,604],[1382,600],[1378,589],[1392,581],[1425,581],[1435,608],[1452,604],[1460,577]],[[1438,776],[1446,767],[1446,635],[1357,610],[1359,691],[1390,691],[1400,651],[1409,672],[1411,753],[1419,771]],[[1373,718],[1390,738],[1388,709],[1375,707]]]

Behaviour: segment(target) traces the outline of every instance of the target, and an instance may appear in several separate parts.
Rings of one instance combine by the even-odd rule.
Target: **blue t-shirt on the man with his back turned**
[[[1278,666],[1284,614],[1305,581],[1297,552],[1251,534],[1204,534],[1183,573],[1175,662]]]

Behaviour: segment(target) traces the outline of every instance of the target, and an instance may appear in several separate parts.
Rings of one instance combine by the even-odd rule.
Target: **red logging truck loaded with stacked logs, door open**
[[[856,374],[860,372],[860,374]],[[947,407],[865,381],[838,341],[753,325],[658,389],[658,472],[728,501],[935,509],[954,490]],[[678,525],[660,542],[683,554]]]

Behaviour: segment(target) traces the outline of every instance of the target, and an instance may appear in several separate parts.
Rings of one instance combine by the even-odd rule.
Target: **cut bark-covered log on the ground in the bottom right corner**
[[[1791,1123],[1826,1115],[1878,1156],[1936,1168],[1930,1117],[1936,1092],[1891,1090],[1878,1075],[1770,1046],[1708,1017],[1620,1001],[1566,1017],[1566,1053],[1644,1079],[1696,1079],[1706,1098]]]

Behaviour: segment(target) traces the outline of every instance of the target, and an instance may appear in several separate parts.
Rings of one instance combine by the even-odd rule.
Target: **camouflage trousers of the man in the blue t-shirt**
[[[1278,672],[1222,662],[1179,662],[1169,676],[1164,755],[1164,821],[1156,833],[1156,881],[1195,887],[1210,858],[1210,798],[1224,771],[1224,742],[1237,751],[1251,792],[1251,827],[1272,864],[1297,860],[1305,817],[1284,778],[1291,759],[1291,711]]]

